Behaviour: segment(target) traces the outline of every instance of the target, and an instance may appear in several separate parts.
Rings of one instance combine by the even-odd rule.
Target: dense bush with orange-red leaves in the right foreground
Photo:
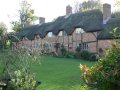
[[[120,40],[114,41],[111,43],[112,47],[93,67],[80,65],[85,82],[98,90],[119,90],[120,88]]]

